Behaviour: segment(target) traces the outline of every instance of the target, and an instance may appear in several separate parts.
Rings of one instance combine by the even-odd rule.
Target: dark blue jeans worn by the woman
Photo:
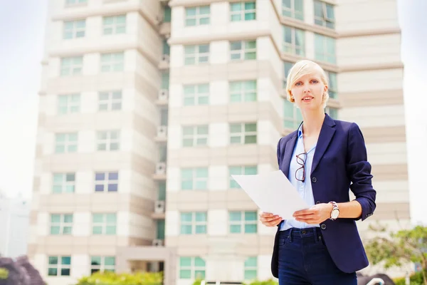
[[[291,228],[279,234],[279,285],[357,285],[357,276],[337,268],[319,228]]]

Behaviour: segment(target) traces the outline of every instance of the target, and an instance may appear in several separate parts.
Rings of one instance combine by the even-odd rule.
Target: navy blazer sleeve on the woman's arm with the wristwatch
[[[376,191],[372,187],[371,164],[367,161],[367,148],[362,131],[356,123],[352,123],[347,140],[347,175],[352,184],[350,190],[356,201],[362,205],[362,215],[355,220],[367,219],[376,208]]]

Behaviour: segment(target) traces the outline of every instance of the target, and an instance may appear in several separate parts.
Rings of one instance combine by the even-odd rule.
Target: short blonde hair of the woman
[[[291,88],[295,84],[295,82],[300,79],[302,76],[306,76],[307,74],[311,74],[315,71],[320,72],[320,80],[325,84],[325,86],[329,86],[327,82],[327,76],[322,67],[320,67],[314,61],[309,61],[307,59],[297,61],[297,63],[290,68],[288,78],[286,80],[286,98],[289,102],[295,103],[295,99],[292,98]],[[323,108],[326,107],[327,100],[329,99],[329,93],[326,91],[323,93]]]

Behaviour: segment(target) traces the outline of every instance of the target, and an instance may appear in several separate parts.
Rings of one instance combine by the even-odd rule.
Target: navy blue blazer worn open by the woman
[[[297,130],[280,138],[278,165],[288,177]],[[352,273],[369,265],[356,220],[367,219],[376,207],[376,191],[371,185],[371,165],[359,126],[325,115],[313,157],[311,183],[316,204],[349,202],[349,190],[362,205],[357,219],[327,219],[320,224],[323,239],[332,260],[344,272]],[[281,224],[281,223],[280,223]],[[271,271],[278,278],[278,233],[275,234]]]

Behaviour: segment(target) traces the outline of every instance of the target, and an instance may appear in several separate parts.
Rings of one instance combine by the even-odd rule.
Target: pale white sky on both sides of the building
[[[427,1],[398,2],[411,217],[427,224]],[[46,11],[47,0],[0,1],[0,190],[9,196],[31,197]]]

